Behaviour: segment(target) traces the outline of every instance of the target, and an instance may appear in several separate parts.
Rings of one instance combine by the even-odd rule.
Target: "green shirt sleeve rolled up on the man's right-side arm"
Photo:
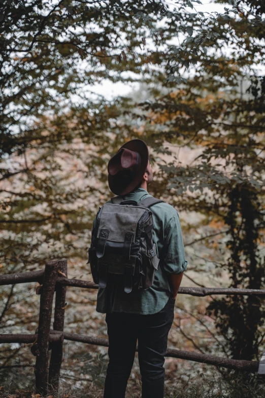
[[[168,274],[178,274],[187,269],[184,244],[179,220],[176,210],[174,216],[169,220],[164,230],[164,270]]]

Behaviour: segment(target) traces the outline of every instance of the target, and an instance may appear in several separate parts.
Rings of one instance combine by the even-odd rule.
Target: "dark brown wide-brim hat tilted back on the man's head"
[[[148,146],[142,140],[126,142],[108,163],[108,181],[115,195],[125,195],[142,181],[149,159]]]

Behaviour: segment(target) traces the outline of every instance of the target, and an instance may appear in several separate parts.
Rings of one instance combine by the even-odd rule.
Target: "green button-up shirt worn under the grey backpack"
[[[139,202],[152,197],[144,188],[123,195],[124,200]],[[108,200],[106,203],[111,203]],[[135,314],[155,314],[162,310],[172,294],[168,275],[181,273],[187,268],[184,245],[178,211],[168,203],[157,203],[151,207],[153,213],[153,242],[156,244],[159,264],[155,271],[154,282],[146,290],[132,290],[125,293],[123,289],[113,286],[99,288],[96,311],[100,313],[127,312]],[[95,228],[95,220],[93,228]]]

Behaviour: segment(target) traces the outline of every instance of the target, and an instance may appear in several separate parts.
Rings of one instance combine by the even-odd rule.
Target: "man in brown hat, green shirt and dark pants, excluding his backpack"
[[[123,200],[139,202],[151,197],[147,186],[153,180],[153,171],[144,141],[126,142],[110,159],[108,172],[110,190]],[[133,289],[129,294],[111,281],[105,288],[98,289],[96,311],[106,313],[109,336],[104,398],[125,397],[137,340],[142,398],[163,397],[164,355],[187,260],[177,210],[164,202],[154,204],[150,209],[154,223],[153,242],[159,258],[153,285],[146,290]]]

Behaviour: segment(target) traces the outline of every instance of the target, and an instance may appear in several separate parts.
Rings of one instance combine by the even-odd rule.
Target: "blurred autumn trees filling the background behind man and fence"
[[[3,3],[3,273],[67,257],[70,278],[90,279],[91,223],[113,196],[108,161],[140,138],[155,170],[149,193],[181,215],[183,285],[264,288],[265,11],[261,1],[218,3],[225,8],[212,13],[187,0]],[[95,94],[106,82],[120,84],[115,97]],[[35,330],[34,293],[32,284],[1,289],[2,332]],[[68,330],[106,335],[95,293],[68,295]],[[170,344],[259,359],[264,316],[255,296],[182,296]],[[32,362],[23,345],[7,348],[5,366]],[[183,380],[207,372],[192,366],[168,360],[167,369],[184,370]]]

